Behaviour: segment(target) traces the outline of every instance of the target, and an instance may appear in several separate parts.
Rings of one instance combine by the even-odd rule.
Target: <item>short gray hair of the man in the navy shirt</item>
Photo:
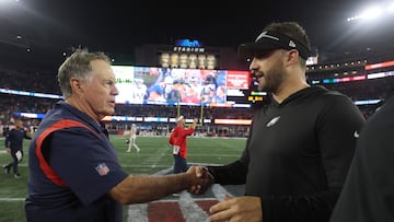
[[[65,98],[72,94],[70,86],[71,78],[85,81],[91,80],[92,60],[104,60],[111,65],[109,57],[104,52],[89,52],[88,49],[78,49],[59,67],[58,82]]]

